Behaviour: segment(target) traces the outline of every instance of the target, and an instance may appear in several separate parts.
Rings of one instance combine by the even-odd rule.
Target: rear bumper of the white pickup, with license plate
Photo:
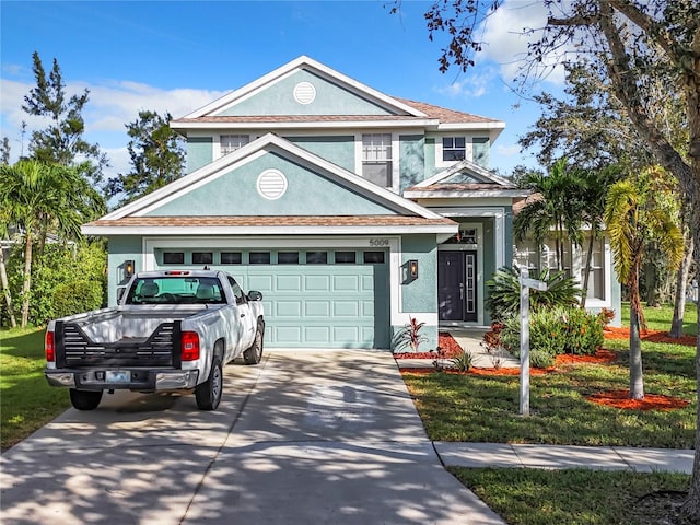
[[[106,370],[45,370],[51,386],[81,390],[177,390],[197,386],[197,370],[120,370],[108,378]]]

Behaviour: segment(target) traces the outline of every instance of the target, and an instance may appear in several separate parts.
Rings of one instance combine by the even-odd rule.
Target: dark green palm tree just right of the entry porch
[[[567,159],[555,162],[549,175],[529,173],[520,184],[533,198],[513,221],[515,237],[522,241],[532,232],[535,244],[542,246],[553,228],[557,270],[563,269],[564,235],[576,246],[583,243],[583,184],[580,172],[568,168]]]

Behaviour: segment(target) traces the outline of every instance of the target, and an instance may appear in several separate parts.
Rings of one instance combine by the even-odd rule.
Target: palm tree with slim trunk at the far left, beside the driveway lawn
[[[22,160],[0,166],[0,205],[8,223],[18,225],[24,234],[21,326],[25,327],[34,243],[43,245],[49,231],[63,240],[80,238],[80,225],[100,213],[104,202],[77,168]]]

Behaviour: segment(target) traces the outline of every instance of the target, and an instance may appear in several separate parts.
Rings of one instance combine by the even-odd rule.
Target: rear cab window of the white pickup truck
[[[212,277],[137,278],[125,304],[223,304],[219,279]]]

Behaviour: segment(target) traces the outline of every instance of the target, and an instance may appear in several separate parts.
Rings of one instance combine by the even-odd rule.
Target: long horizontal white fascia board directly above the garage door
[[[83,235],[401,235],[418,233],[454,234],[459,225],[429,224],[410,226],[125,226],[83,225]]]

